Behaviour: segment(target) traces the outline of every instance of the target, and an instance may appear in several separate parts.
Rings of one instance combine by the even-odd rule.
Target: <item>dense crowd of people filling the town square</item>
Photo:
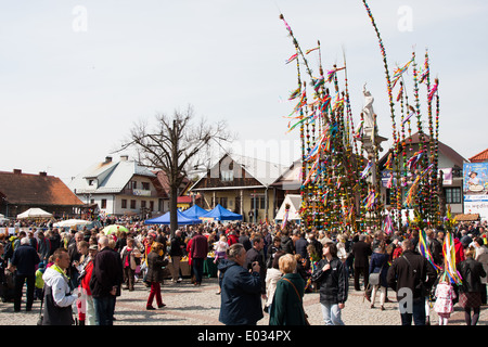
[[[438,324],[448,324],[458,304],[466,324],[475,325],[480,306],[487,304],[486,222],[460,223],[452,231],[460,285],[444,269],[442,228],[424,230],[432,255],[427,259],[415,228],[385,234],[371,228],[304,231],[295,223],[282,229],[216,222],[183,227],[171,235],[168,227],[113,222],[129,231],[105,235],[102,228],[31,224],[13,235],[0,233],[2,301],[13,301],[14,311],[21,311],[26,285],[26,310],[35,299],[43,305],[39,324],[111,325],[123,291],[133,291],[142,281],[150,288],[145,308],[155,310],[154,300],[163,308],[164,280],[181,283],[180,264],[188,258],[191,281],[200,286],[203,262],[211,252],[223,324],[256,324],[265,317],[271,325],[308,324],[303,298],[317,292],[324,323],[342,325],[349,286],[363,292],[371,309],[378,303],[381,310],[387,292],[395,291],[406,325],[429,324],[431,307]]]

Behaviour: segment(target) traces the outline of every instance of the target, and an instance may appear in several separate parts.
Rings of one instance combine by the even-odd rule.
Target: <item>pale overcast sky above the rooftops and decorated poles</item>
[[[345,52],[355,121],[367,83],[380,133],[391,138],[383,61],[360,0],[0,3],[0,170],[69,181],[118,149],[136,121],[188,104],[209,123],[227,119],[235,152],[290,165],[299,134],[286,134],[295,103],[285,100],[297,79],[296,65],[285,64],[295,50],[280,12],[304,50],[320,40],[325,69]],[[440,141],[464,158],[486,150],[488,2],[369,5],[391,70],[413,50],[422,64],[428,49],[440,81]],[[309,54],[316,74],[317,56]]]

